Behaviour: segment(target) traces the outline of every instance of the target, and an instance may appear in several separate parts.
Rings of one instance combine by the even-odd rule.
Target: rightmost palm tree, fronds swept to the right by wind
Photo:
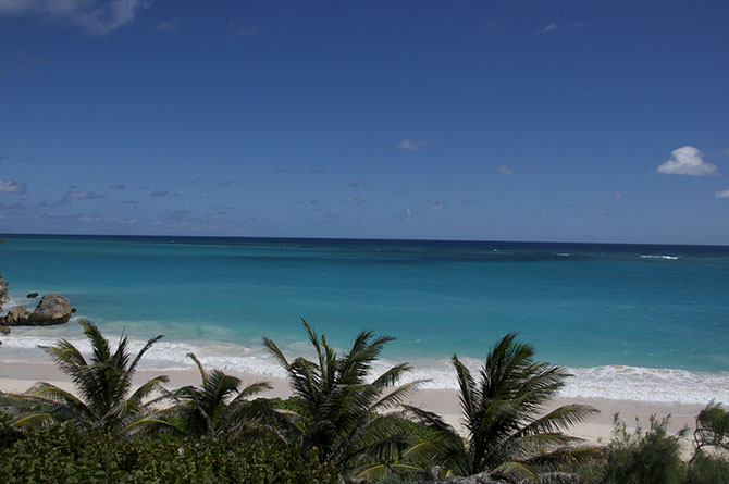
[[[570,447],[579,439],[563,431],[597,410],[573,404],[543,414],[544,405],[570,374],[534,362],[534,348],[515,339],[516,334],[509,333],[490,350],[478,382],[457,356],[452,358],[467,439],[435,413],[404,406],[434,433],[430,442],[409,449],[407,457],[459,475],[489,472],[535,479],[544,466],[576,463],[594,456],[594,448]]]

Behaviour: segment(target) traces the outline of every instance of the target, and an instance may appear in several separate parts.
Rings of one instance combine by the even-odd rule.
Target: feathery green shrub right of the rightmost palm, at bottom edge
[[[681,460],[681,439],[688,429],[668,433],[669,417],[652,415],[648,430],[635,420],[630,433],[616,413],[613,438],[607,446],[604,484],[678,484],[683,482],[685,463]]]

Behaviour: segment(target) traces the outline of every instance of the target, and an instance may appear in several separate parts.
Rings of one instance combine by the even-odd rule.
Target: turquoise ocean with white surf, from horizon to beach
[[[508,332],[574,374],[563,395],[729,402],[729,247],[227,237],[1,236],[13,305],[59,293],[54,327],[15,327],[0,361],[45,361],[59,337],[85,346],[86,318],[140,346],[143,367],[282,376],[268,336],[308,355],[300,318],[339,348],[362,330],[397,339],[425,387],[454,388],[449,358],[478,365]]]

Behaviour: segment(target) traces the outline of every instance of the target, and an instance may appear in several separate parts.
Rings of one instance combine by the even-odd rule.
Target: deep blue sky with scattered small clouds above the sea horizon
[[[726,1],[0,0],[0,233],[729,244]]]

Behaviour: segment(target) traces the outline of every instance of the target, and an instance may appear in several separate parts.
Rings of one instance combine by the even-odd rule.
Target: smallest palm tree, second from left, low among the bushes
[[[223,432],[240,429],[247,417],[255,413],[247,412],[250,410],[247,398],[270,389],[271,384],[257,382],[238,390],[239,378],[226,375],[220,370],[208,372],[195,355],[187,356],[200,371],[202,386],[184,386],[173,392],[171,398],[177,404],[164,413],[180,415],[184,427],[195,435],[217,437]]]

